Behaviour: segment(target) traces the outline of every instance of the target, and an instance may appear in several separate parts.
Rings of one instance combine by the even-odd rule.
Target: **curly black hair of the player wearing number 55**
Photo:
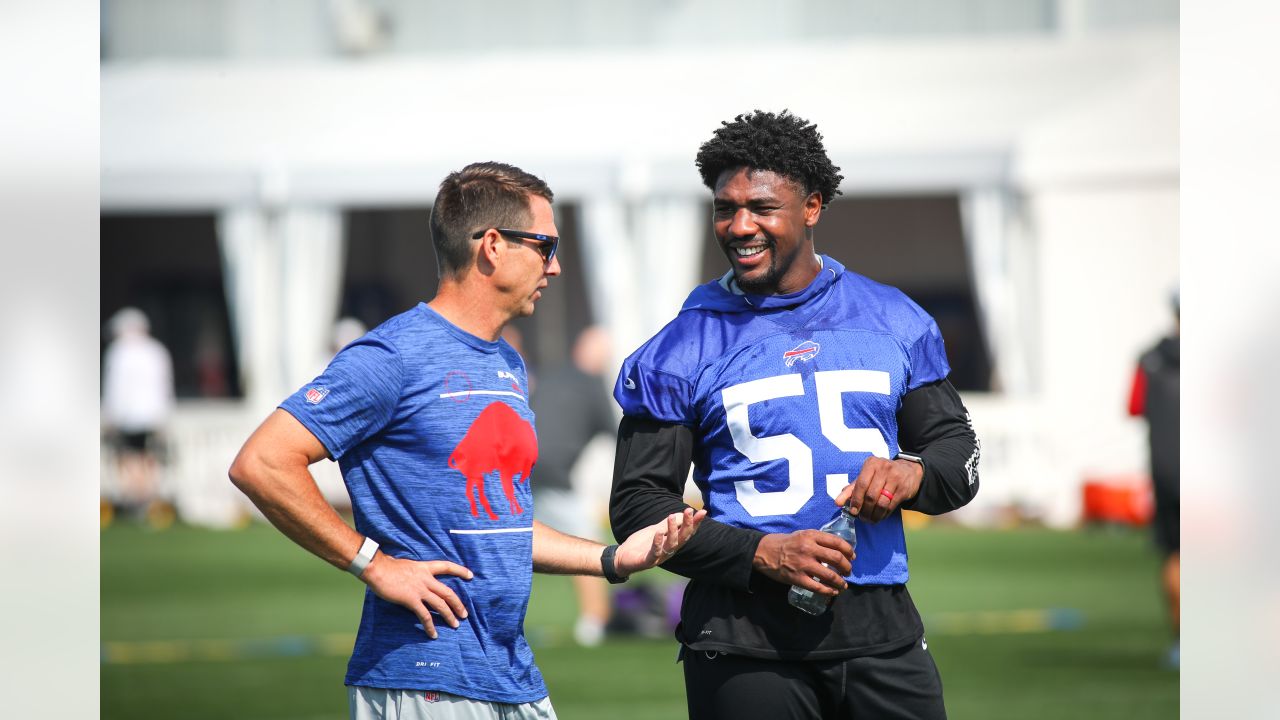
[[[787,110],[755,110],[721,123],[710,140],[698,149],[698,172],[703,184],[716,190],[721,173],[732,168],[773,170],[796,181],[806,193],[822,195],[822,206],[840,195],[840,168],[822,146],[818,126]]]

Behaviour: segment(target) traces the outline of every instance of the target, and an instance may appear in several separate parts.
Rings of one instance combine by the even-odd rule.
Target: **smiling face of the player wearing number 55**
[[[786,295],[809,286],[822,269],[809,233],[820,214],[819,193],[806,195],[772,170],[731,168],[716,181],[716,240],[746,292]]]

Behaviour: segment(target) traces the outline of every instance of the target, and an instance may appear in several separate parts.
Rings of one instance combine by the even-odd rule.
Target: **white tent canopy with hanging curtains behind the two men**
[[[1082,477],[1142,466],[1140,430],[1119,409],[1178,274],[1176,58],[1176,32],[1161,31],[116,63],[102,69],[101,201],[219,214],[248,395],[274,398],[324,354],[319,324],[271,328],[292,309],[335,307],[340,209],[426,205],[476,160],[535,172],[580,208],[589,292],[626,350],[694,284],[696,254],[655,238],[698,246],[698,146],[737,113],[791,109],[818,124],[846,195],[961,197],[1005,378],[1002,395],[966,397],[988,480],[966,512],[1018,503],[1068,523]],[[660,268],[666,283],[641,301],[618,266]]]

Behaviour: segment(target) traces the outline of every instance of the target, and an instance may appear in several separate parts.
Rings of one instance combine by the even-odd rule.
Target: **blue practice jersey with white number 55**
[[[692,429],[708,516],[765,533],[819,528],[872,455],[897,455],[905,393],[950,372],[937,324],[901,291],[822,256],[791,295],[726,274],[622,365],[627,415]],[[855,584],[908,580],[902,516],[858,521]]]

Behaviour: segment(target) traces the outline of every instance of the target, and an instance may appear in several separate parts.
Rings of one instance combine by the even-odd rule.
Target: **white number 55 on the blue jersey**
[[[845,452],[869,452],[888,459],[888,443],[878,428],[850,428],[845,425],[841,396],[846,392],[874,392],[888,395],[890,377],[883,370],[824,370],[814,373],[818,392],[818,421],[822,434]],[[774,375],[749,383],[727,387],[721,392],[724,420],[733,436],[733,447],[751,462],[786,460],[788,483],[786,489],[762,492],[755,480],[737,480],[737,501],[754,516],[792,515],[813,497],[813,451],[791,433],[755,437],[751,434],[748,409],[755,402],[805,393],[799,374]],[[849,473],[827,475],[827,495],[835,498],[849,484]]]

